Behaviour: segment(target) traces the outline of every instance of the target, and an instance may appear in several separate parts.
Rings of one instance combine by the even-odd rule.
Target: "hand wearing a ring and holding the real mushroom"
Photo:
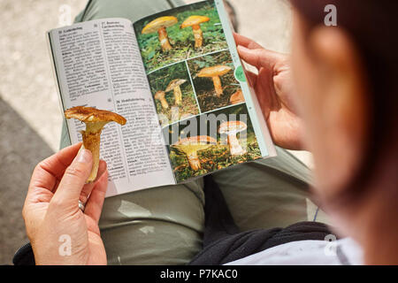
[[[34,169],[22,215],[36,264],[106,264],[98,220],[108,173],[101,161],[99,177],[85,185],[92,157],[80,146],[62,149]]]

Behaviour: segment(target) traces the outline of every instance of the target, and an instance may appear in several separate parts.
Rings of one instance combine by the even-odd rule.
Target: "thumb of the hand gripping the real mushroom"
[[[72,164],[66,168],[64,177],[52,200],[65,205],[78,205],[80,192],[88,180],[93,166],[93,157],[88,149],[80,149]]]

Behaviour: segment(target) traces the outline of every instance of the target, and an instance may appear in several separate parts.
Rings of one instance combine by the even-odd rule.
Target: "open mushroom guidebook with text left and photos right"
[[[276,155],[222,0],[48,35],[63,111],[81,105],[127,119],[103,129],[107,196]],[[71,119],[67,127],[80,142],[84,124]]]

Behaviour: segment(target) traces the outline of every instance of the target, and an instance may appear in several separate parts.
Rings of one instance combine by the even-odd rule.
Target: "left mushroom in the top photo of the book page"
[[[142,28],[142,34],[152,34],[157,32],[160,45],[162,45],[162,50],[171,50],[172,45],[170,45],[166,27],[172,27],[173,25],[177,24],[178,21],[179,20],[177,18],[172,16],[154,19],[148,25]]]

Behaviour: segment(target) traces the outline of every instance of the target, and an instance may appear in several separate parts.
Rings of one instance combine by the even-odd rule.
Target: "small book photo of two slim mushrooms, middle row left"
[[[159,69],[148,78],[162,126],[199,114],[185,62]]]

